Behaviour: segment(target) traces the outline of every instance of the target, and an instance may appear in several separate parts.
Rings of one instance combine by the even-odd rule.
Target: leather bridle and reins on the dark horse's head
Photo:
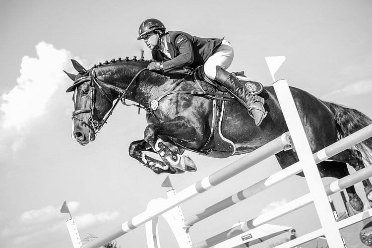
[[[86,82],[88,80],[90,81],[90,109],[74,110],[72,112],[72,119],[76,119],[76,120],[80,121],[82,124],[87,125],[93,131],[94,135],[96,136],[97,133],[99,133],[101,131],[101,128],[103,127],[103,125],[105,123],[107,123],[107,119],[109,119],[109,117],[112,115],[114,109],[116,108],[116,106],[118,105],[119,102],[122,102],[124,105],[129,105],[129,104],[125,103],[125,98],[126,98],[127,91],[129,89],[130,85],[138,77],[138,75],[141,74],[141,72],[144,71],[144,70],[148,70],[148,69],[143,68],[143,69],[139,70],[137,72],[137,74],[135,74],[135,76],[132,78],[132,80],[130,81],[128,86],[125,88],[125,90],[120,91],[118,100],[111,107],[111,109],[106,113],[104,118],[101,118],[101,116],[98,114],[98,112],[94,111],[96,109],[96,107],[95,107],[95,103],[96,103],[95,90],[96,90],[96,88],[94,87],[94,85],[97,85],[97,87],[101,90],[101,92],[103,92],[103,95],[109,100],[109,102],[111,104],[113,104],[114,100],[112,100],[110,98],[110,96],[106,93],[106,91],[103,89],[103,87],[97,82],[96,71],[94,69],[92,70],[92,72],[88,71],[87,76],[80,77],[78,80],[76,80],[74,82],[74,84],[81,84],[81,83]],[[76,99],[75,99],[75,101],[76,101]],[[138,105],[138,107],[140,107],[140,106]],[[89,123],[86,123],[83,119],[77,117],[77,115],[83,114],[83,113],[90,113],[90,117],[88,119]],[[96,117],[98,119],[98,121],[94,120],[94,117]]]

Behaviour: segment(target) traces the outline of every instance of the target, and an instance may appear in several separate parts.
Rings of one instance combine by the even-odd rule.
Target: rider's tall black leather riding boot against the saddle
[[[238,78],[221,66],[216,66],[216,80],[221,83],[244,107],[248,109],[248,114],[254,119],[256,126],[267,116],[263,104],[265,100],[257,95],[249,94],[246,87],[241,84]]]

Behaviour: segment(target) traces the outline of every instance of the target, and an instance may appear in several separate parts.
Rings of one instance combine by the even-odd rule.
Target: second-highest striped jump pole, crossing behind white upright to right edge
[[[316,163],[319,163],[325,159],[328,159],[334,155],[336,155],[339,152],[342,152],[345,149],[348,149],[349,147],[362,142],[365,139],[368,139],[372,137],[372,124],[358,130],[357,132],[354,132],[353,134],[325,147],[324,149],[315,152],[313,154],[313,158]],[[273,175],[270,177],[267,177],[241,191],[239,191],[236,194],[233,194],[207,208],[204,210],[189,216],[185,219],[185,226],[190,227],[194,225],[195,223],[208,218],[212,216],[213,214],[216,214],[234,204],[237,204],[247,198],[249,198],[252,195],[255,195],[271,186],[276,185],[279,182],[282,182],[283,180],[296,175],[302,171],[301,162],[297,162]]]

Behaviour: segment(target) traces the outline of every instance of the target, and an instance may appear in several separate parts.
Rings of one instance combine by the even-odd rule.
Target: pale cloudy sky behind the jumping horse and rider
[[[143,138],[145,114],[118,107],[97,139],[82,147],[72,141],[70,59],[86,68],[124,58],[151,59],[137,30],[146,18],[158,18],[168,30],[199,37],[225,37],[235,50],[230,71],[272,85],[266,56],[286,56],[276,78],[316,97],[343,104],[372,117],[372,2],[370,0],[246,1],[3,1],[0,8],[0,241],[4,247],[72,247],[60,213],[67,200],[82,238],[102,236],[146,209],[149,200],[166,197],[167,175],[155,175],[128,155]],[[195,173],[171,175],[176,190],[201,180],[240,158],[211,159],[186,153]],[[212,203],[280,170],[274,157],[233,180],[182,205],[190,216]],[[350,169],[353,172],[353,169]],[[323,179],[324,184],[334,179]],[[365,199],[361,184],[357,186]],[[293,177],[243,201],[190,231],[194,243],[247,221],[308,192]],[[333,199],[343,211],[340,196]],[[301,221],[299,221],[301,220]],[[217,224],[218,223],[218,224]],[[271,224],[296,228],[299,236],[320,228],[313,205]],[[176,243],[164,220],[164,248]],[[266,248],[284,238],[257,245]],[[117,240],[143,248],[144,227]],[[271,242],[271,243],[270,243]],[[51,245],[52,244],[52,245]],[[363,246],[355,246],[363,247]]]

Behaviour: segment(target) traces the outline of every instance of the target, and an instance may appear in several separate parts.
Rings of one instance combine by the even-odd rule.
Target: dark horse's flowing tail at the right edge
[[[365,126],[372,124],[372,120],[358,110],[350,109],[331,102],[322,102],[333,113],[337,126],[338,139],[342,139]],[[363,159],[365,159],[368,164],[372,164],[372,137],[352,147],[362,153]]]

